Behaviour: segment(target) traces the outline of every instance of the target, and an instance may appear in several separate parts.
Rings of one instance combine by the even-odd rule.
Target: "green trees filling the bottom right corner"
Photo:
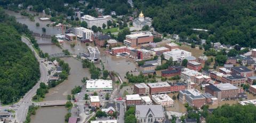
[[[206,122],[255,122],[256,121],[256,106],[254,105],[222,105],[213,111],[206,118]]]

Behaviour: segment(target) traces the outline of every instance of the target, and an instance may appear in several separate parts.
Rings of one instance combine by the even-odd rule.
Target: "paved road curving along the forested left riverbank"
[[[36,90],[39,88],[40,83],[41,82],[47,83],[47,79],[48,79],[47,68],[45,67],[45,65],[43,63],[40,62],[40,57],[35,52],[34,48],[31,46],[29,39],[22,37],[21,40],[23,43],[26,43],[28,45],[28,47],[31,49],[31,51],[33,51],[35,53],[36,59],[39,62],[39,69],[41,72],[41,77],[40,77],[38,83],[32,89],[30,89],[30,91],[27,92],[25,96],[23,96],[23,99],[21,99],[18,103],[14,104],[13,107],[11,108],[16,111],[16,114],[15,114],[16,117],[14,120],[16,120],[17,122],[20,122],[20,123],[26,120],[28,107],[29,107],[29,105],[32,105],[31,99],[36,94]],[[5,110],[5,109],[9,109],[9,108],[10,108],[10,106],[1,106],[0,110]]]

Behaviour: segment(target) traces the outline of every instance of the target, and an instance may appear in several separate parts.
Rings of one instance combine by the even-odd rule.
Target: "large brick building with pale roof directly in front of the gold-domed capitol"
[[[153,35],[149,31],[131,32],[131,35],[126,35],[124,45],[137,47],[142,44],[153,42]]]

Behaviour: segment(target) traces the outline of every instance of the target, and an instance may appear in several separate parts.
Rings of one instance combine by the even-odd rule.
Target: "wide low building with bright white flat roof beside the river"
[[[112,80],[95,79],[86,81],[86,92],[100,91],[113,91]]]

